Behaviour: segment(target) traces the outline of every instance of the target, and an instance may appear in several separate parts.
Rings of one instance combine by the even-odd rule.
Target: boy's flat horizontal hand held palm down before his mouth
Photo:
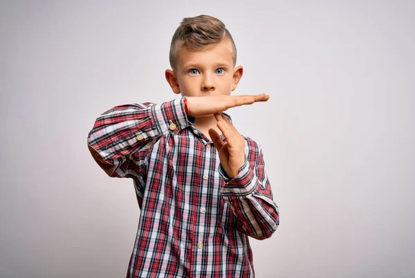
[[[214,113],[226,111],[228,108],[235,106],[252,104],[257,101],[268,101],[270,96],[266,94],[236,96],[219,95],[186,98],[188,115],[193,117],[205,117]]]

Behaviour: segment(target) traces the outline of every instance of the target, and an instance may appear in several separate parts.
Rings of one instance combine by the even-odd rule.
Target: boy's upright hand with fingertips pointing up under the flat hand
[[[209,129],[209,135],[219,152],[223,170],[230,178],[234,178],[238,175],[239,168],[245,163],[245,139],[221,113],[214,113],[214,117],[217,121],[216,125],[226,139],[226,143],[222,141],[219,133],[213,128]]]

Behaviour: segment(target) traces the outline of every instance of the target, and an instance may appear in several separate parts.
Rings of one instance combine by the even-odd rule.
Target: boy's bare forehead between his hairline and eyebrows
[[[185,47],[181,47],[177,52],[177,66],[178,68],[183,68],[190,64],[210,66],[216,63],[228,63],[229,66],[232,66],[232,54],[232,42],[227,38],[224,38],[214,47],[208,46],[208,48],[198,51],[190,51]]]

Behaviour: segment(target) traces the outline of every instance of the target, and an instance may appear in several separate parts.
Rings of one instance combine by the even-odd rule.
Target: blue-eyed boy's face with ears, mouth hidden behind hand
[[[182,47],[177,53],[176,71],[166,70],[165,75],[172,90],[183,97],[230,95],[243,68],[234,68],[232,43],[225,37],[214,48],[192,52]]]

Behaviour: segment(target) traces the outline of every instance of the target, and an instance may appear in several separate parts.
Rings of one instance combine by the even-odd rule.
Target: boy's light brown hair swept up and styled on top
[[[170,44],[170,66],[173,70],[176,70],[177,53],[180,48],[185,47],[190,51],[205,50],[216,46],[224,37],[228,37],[232,42],[232,60],[235,66],[237,63],[237,46],[235,46],[232,35],[222,21],[205,14],[198,17],[185,17],[174,32]]]

